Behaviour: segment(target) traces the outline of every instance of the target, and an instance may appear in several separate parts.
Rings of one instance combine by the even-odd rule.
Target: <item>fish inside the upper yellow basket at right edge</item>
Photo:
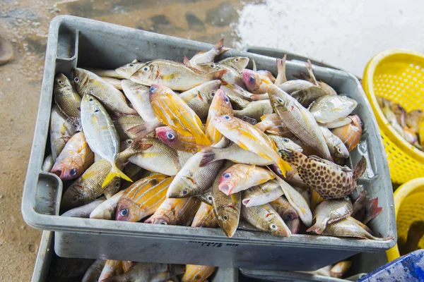
[[[377,97],[377,102],[396,133],[424,152],[424,111],[416,109],[408,112],[403,106],[383,97]]]

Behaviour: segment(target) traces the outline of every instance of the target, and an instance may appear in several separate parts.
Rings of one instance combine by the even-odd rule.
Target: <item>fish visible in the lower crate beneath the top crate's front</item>
[[[82,282],[181,281],[202,282],[217,268],[194,264],[155,264],[112,259],[96,259],[87,269]]]

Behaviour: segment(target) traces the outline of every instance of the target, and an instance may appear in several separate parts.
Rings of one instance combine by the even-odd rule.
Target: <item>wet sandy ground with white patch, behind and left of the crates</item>
[[[331,3],[331,4],[330,4]],[[384,4],[383,4],[384,3]],[[0,1],[0,35],[15,51],[0,66],[0,281],[30,281],[41,231],[20,214],[37,116],[49,21],[61,14],[94,18],[227,46],[273,47],[312,56],[362,75],[378,51],[424,51],[424,6],[404,1],[175,0]]]

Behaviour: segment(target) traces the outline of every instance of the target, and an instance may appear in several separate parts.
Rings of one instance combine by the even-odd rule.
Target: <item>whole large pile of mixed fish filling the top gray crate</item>
[[[345,165],[358,102],[310,62],[287,80],[285,57],[274,77],[247,57],[214,62],[227,50],[56,75],[43,169],[65,181],[62,216],[379,239],[365,225],[378,199],[356,183],[365,157]]]

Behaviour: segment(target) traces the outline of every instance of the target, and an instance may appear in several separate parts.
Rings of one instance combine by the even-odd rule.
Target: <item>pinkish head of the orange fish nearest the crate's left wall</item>
[[[84,167],[78,154],[69,155],[55,163],[50,172],[59,176],[61,180],[72,180],[83,174]]]

